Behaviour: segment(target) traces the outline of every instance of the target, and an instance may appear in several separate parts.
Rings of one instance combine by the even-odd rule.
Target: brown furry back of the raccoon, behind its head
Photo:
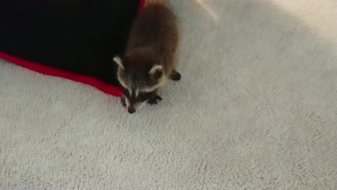
[[[178,46],[178,24],[176,16],[164,3],[164,0],[148,1],[133,24],[126,52],[150,47],[164,62],[161,64],[166,72],[171,72]]]

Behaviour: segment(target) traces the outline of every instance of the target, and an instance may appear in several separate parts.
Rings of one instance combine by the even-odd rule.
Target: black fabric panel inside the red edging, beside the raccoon
[[[0,0],[0,51],[118,85],[138,0]]]

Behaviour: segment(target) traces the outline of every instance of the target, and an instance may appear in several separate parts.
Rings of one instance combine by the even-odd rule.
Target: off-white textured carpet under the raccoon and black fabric
[[[337,188],[336,1],[170,2],[183,80],[136,115],[0,61],[1,190]]]

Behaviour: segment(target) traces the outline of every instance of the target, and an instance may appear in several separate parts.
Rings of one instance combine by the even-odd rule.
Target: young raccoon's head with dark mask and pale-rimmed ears
[[[159,60],[137,54],[114,57],[118,65],[117,78],[129,113],[135,113],[150,98],[150,94],[164,85],[166,77]]]

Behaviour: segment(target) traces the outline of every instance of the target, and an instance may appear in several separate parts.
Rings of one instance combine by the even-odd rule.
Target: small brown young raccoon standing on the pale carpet
[[[176,71],[178,22],[165,0],[147,0],[136,18],[124,56],[114,57],[121,84],[121,103],[135,113],[144,103],[161,101],[157,91],[171,80],[180,80]]]

